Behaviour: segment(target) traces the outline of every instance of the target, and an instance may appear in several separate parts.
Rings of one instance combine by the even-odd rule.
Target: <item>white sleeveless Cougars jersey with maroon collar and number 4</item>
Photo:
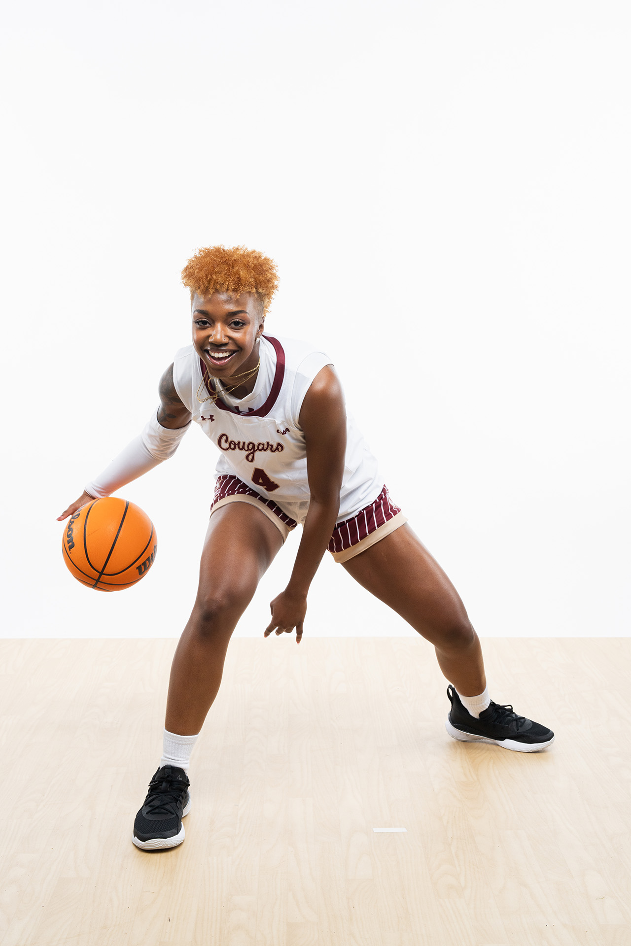
[[[213,402],[193,345],[173,361],[173,382],[196,424],[219,447],[217,473],[232,473],[284,513],[304,522],[309,506],[307,448],[300,409],[307,391],[331,359],[307,342],[263,336],[254,391],[242,400],[227,395]],[[346,419],[346,456],[340,493],[342,522],[379,495],[377,460],[353,419]]]

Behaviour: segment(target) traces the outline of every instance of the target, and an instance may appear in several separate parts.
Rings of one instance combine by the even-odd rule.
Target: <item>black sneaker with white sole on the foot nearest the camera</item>
[[[131,840],[142,850],[177,848],[184,841],[182,819],[190,811],[190,782],[184,769],[163,765],[149,782],[149,793],[133,822]]]

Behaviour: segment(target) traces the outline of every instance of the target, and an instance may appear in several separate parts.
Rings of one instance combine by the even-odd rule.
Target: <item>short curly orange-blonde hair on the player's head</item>
[[[244,246],[205,246],[188,260],[182,282],[190,289],[191,302],[198,295],[213,292],[254,292],[267,315],[272,296],[278,289],[276,264],[269,256]]]

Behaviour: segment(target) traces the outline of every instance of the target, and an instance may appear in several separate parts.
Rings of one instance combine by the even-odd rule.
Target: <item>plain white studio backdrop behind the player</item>
[[[331,354],[482,636],[629,634],[625,2],[34,0],[4,26],[5,636],[180,633],[200,430],[123,491],[159,536],[137,587],[79,586],[55,517],[154,410],[179,272],[218,242],[277,261],[268,330]],[[307,634],[413,634],[326,557]]]

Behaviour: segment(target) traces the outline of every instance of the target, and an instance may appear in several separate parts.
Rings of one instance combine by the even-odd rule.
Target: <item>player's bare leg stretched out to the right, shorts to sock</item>
[[[438,663],[463,696],[486,686],[480,639],[447,575],[409,525],[343,563],[359,585],[400,614],[435,647]]]

